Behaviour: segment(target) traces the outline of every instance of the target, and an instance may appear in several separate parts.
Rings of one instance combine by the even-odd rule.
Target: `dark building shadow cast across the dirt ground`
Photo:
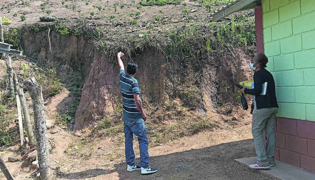
[[[253,139],[235,141],[202,149],[192,149],[167,155],[150,157],[150,165],[157,167],[156,173],[141,175],[140,171],[127,172],[126,164],[115,165],[114,170],[89,169],[82,172],[62,174],[63,179],[122,179],[122,180],[182,180],[182,179],[264,179],[265,175],[251,171],[234,159],[255,156]],[[135,159],[139,163],[139,158]],[[254,162],[253,162],[254,163]]]

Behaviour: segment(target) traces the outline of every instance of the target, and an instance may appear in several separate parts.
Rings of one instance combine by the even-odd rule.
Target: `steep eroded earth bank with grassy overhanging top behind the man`
[[[77,19],[23,25],[7,30],[5,38],[33,59],[38,71],[56,72],[52,81],[75,97],[57,120],[74,120],[74,129],[91,137],[123,132],[116,55],[124,52],[125,63],[139,64],[146,128],[155,146],[239,123],[230,120],[239,112],[233,84],[250,77],[244,64],[255,53],[255,26],[242,15],[227,20],[170,32],[126,28],[105,33],[89,19]]]

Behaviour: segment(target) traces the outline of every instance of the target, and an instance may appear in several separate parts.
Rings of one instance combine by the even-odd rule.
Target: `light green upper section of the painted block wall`
[[[315,121],[315,1],[261,3],[266,69],[275,79],[277,116]]]

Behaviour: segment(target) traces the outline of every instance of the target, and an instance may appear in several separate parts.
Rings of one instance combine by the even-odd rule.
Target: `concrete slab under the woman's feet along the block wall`
[[[243,164],[244,166],[249,166],[257,161],[257,157],[248,157],[242,159],[236,159],[235,161]],[[252,168],[251,168],[252,169]],[[286,164],[281,161],[276,161],[276,166],[270,167],[270,169],[252,169],[255,172],[259,172],[266,176],[272,177],[277,180],[315,180],[315,174],[299,167],[295,167]]]

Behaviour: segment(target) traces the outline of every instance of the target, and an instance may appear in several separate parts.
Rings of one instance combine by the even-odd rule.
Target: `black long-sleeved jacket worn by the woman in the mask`
[[[266,95],[260,95],[262,91],[262,84],[267,82]],[[256,108],[268,108],[268,107],[279,107],[276,97],[275,81],[272,74],[266,69],[260,69],[254,74],[254,89],[244,90],[245,94],[255,95]]]

